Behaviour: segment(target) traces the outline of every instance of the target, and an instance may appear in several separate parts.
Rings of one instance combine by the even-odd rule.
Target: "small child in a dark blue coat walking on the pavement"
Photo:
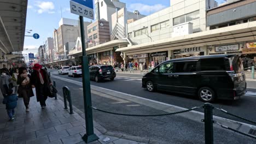
[[[9,89],[8,95],[4,97],[3,104],[5,104],[5,109],[9,116],[9,121],[14,121],[14,109],[17,106],[18,96],[13,94],[13,89]]]

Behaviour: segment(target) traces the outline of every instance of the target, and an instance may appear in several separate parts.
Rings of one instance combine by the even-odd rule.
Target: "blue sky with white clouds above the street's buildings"
[[[223,2],[223,0],[218,1]],[[129,11],[139,10],[144,15],[149,15],[170,6],[170,0],[120,0],[120,2],[126,3]],[[59,27],[61,8],[63,17],[78,19],[77,15],[70,13],[69,0],[28,0],[26,29],[33,29],[31,33],[38,33],[40,38],[36,40],[32,37],[25,37],[24,50],[28,50],[24,53],[36,53],[37,49],[35,48],[44,44],[46,38],[53,37],[54,28]],[[85,19],[85,21],[90,20]],[[26,33],[26,35],[31,34]]]

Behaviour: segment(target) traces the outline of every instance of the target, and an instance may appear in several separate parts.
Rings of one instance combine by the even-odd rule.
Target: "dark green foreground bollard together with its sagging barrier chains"
[[[244,121],[247,121],[247,122],[250,122],[250,123],[256,124],[256,122],[251,121],[251,120],[246,119],[246,118],[243,118],[241,116],[234,115],[232,113],[229,113],[226,110],[219,109],[217,107],[213,107],[212,104],[209,104],[209,103],[205,103],[205,105],[203,105],[203,106],[196,106],[196,107],[193,107],[193,108],[188,109],[188,110],[183,110],[183,111],[178,111],[178,112],[171,112],[171,113],[164,113],[164,114],[158,114],[158,115],[136,115],[136,114],[117,113],[117,112],[112,112],[112,111],[101,110],[101,109],[98,109],[97,107],[91,106],[91,109],[94,109],[96,111],[100,111],[100,112],[104,112],[104,113],[109,113],[109,114],[113,114],[113,115],[133,116],[133,117],[156,117],[156,116],[176,115],[178,113],[189,112],[189,111],[193,111],[193,110],[196,110],[196,109],[199,109],[199,108],[205,109],[205,112],[204,112],[205,113],[205,119],[201,120],[202,122],[205,123],[205,143],[213,144],[213,124],[217,124],[220,127],[224,128],[224,129],[228,129],[228,130],[234,131],[235,133],[239,133],[241,135],[245,135],[245,136],[251,137],[252,139],[256,139],[255,136],[243,133],[241,131],[232,129],[232,128],[227,127],[227,126],[225,126],[223,124],[220,124],[220,123],[218,123],[216,121],[213,121],[213,110],[214,109],[215,110],[220,110],[220,111],[226,113],[227,115],[234,116],[236,118],[240,118],[240,119],[242,119]]]

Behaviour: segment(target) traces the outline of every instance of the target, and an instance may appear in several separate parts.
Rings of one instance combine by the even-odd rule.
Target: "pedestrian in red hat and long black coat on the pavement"
[[[31,74],[32,88],[36,88],[37,101],[40,102],[42,109],[45,109],[45,101],[51,95],[50,87],[53,83],[48,73],[42,69],[42,65],[36,63],[32,69],[34,70]]]

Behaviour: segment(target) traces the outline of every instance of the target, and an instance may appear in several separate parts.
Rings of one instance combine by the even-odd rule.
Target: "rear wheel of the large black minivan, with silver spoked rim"
[[[207,103],[214,101],[214,99],[216,98],[214,91],[209,87],[200,88],[198,91],[198,96],[200,100]]]

